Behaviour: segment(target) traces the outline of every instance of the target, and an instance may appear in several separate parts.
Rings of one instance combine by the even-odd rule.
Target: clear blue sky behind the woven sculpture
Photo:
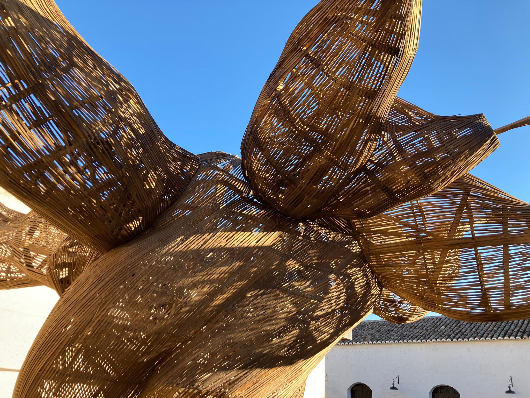
[[[162,131],[195,153],[240,154],[255,100],[316,0],[56,0],[133,83]],[[530,1],[426,0],[420,48],[399,95],[439,115],[530,115]],[[530,201],[530,127],[500,135],[473,170]]]

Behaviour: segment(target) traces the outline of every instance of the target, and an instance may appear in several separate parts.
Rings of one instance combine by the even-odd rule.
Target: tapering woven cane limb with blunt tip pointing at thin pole
[[[437,116],[396,98],[360,175],[316,216],[367,218],[430,195],[498,146],[484,115]]]

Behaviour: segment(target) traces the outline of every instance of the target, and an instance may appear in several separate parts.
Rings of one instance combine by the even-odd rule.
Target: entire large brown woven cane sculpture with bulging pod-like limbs
[[[61,295],[14,397],[301,397],[372,310],[530,317],[530,205],[467,174],[496,132],[396,98],[420,0],[316,5],[241,160],[167,140],[52,0],[0,4],[0,185],[35,212],[0,209],[0,288]]]

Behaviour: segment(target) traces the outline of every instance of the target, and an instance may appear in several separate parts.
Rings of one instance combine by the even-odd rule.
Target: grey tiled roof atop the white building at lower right
[[[338,344],[530,339],[530,319],[481,323],[457,321],[447,316],[428,316],[402,325],[364,321],[351,334],[351,340],[341,340]]]

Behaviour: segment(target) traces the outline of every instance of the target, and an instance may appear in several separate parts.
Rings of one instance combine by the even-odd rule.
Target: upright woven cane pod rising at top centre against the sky
[[[419,0],[322,0],[298,24],[242,143],[253,193],[314,214],[373,152],[416,53]]]

